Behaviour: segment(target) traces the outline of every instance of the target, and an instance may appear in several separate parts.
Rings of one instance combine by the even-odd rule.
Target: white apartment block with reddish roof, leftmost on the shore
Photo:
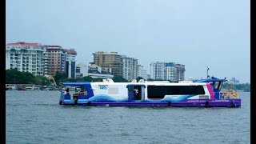
[[[43,53],[40,43],[16,42],[6,44],[6,70],[17,69],[34,75],[42,75]]]

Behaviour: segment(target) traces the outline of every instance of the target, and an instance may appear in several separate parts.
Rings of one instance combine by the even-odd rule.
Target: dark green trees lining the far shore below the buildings
[[[114,82],[128,82],[125,78],[120,76],[114,76],[112,78]],[[142,79],[142,77],[136,78],[137,82]],[[91,78],[86,76],[83,78],[66,78],[66,74],[56,72],[54,75],[54,80],[58,86],[62,85],[62,82],[102,82],[102,78]],[[149,79],[149,81],[154,81],[154,79]],[[158,80],[161,81],[161,80]],[[21,72],[15,69],[6,70],[6,84],[35,84],[41,86],[50,86],[53,84],[52,80],[44,76],[34,76],[29,72]],[[250,83],[246,84],[223,84],[224,89],[242,90],[250,91]]]

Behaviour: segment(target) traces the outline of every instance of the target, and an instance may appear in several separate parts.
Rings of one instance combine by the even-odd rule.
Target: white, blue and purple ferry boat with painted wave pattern
[[[240,107],[241,99],[225,97],[225,79],[207,78],[198,82],[64,82],[79,87],[79,92],[61,90],[60,105],[83,106],[224,106]]]

